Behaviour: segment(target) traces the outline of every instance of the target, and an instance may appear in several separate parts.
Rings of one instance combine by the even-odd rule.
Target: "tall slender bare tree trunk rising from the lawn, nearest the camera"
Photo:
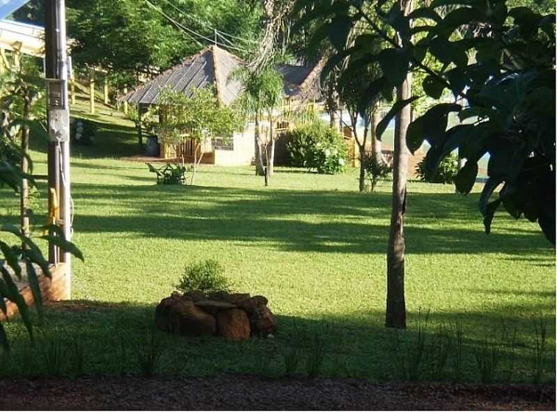
[[[397,90],[397,100],[411,96],[411,74]],[[405,106],[395,118],[395,142],[393,158],[393,203],[391,231],[387,248],[387,296],[385,326],[406,328],[405,305],[405,212],[406,182],[408,173],[408,148],[406,131],[411,122],[411,108]]]

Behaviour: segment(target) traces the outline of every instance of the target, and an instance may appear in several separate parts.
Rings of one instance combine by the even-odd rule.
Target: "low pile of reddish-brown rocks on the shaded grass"
[[[155,310],[157,328],[185,336],[219,335],[228,340],[246,340],[251,335],[269,336],[276,317],[267,308],[265,296],[192,290],[173,292]]]

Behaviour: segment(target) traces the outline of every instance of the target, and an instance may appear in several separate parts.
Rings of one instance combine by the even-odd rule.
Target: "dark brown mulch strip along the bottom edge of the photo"
[[[553,410],[555,386],[377,384],[359,379],[0,380],[0,409]]]

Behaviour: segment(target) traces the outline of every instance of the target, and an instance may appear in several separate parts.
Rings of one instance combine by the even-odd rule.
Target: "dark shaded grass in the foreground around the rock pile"
[[[272,308],[272,302],[269,303]],[[464,333],[464,358],[461,378],[464,381],[478,380],[478,365],[473,356],[486,342],[496,341],[501,346],[501,364],[496,380],[508,379],[510,349],[505,341],[508,334],[518,331],[518,344],[514,349],[514,374],[516,381],[530,381],[535,363],[535,331],[533,322],[545,319],[549,336],[554,336],[553,318],[542,317],[540,310],[547,310],[543,304],[533,304],[526,312],[538,315],[518,315],[524,307],[497,306],[478,312],[432,312],[427,319],[425,348],[436,342],[440,331],[453,333],[451,329],[460,322]],[[139,374],[138,353],[141,345],[152,330],[155,304],[111,303],[98,301],[66,301],[52,303],[46,308],[46,328],[58,333],[65,349],[63,374],[74,374],[72,370],[72,344],[79,338],[84,345],[85,371],[87,374]],[[299,365],[296,374],[306,374],[305,358],[317,350],[315,342],[324,347],[321,374],[328,377],[364,377],[382,381],[400,379],[397,362],[399,356],[409,356],[416,350],[418,320],[425,322],[425,311],[408,312],[408,329],[395,331],[383,326],[384,313],[371,310],[358,313],[338,313],[315,315],[314,318],[278,315],[278,329],[273,339],[252,338],[246,342],[228,342],[223,338],[205,336],[187,338],[166,333],[157,333],[162,354],[159,373],[165,375],[186,374],[189,376],[212,376],[222,373],[258,374],[279,377],[285,374],[285,362],[292,354],[297,354]],[[547,315],[546,315],[547,316]],[[444,330],[439,329],[441,325]],[[502,326],[503,325],[503,326]],[[13,358],[24,354],[29,343],[24,327],[19,319],[8,324],[8,333],[13,343]],[[505,333],[507,337],[505,338]],[[312,343],[313,342],[313,343]],[[398,342],[398,344],[395,344]],[[453,344],[455,344],[453,342]],[[397,346],[398,345],[398,346]],[[447,359],[444,379],[452,379],[453,349]],[[550,338],[548,354],[554,349],[554,338]],[[397,352],[398,351],[398,352]],[[424,355],[424,356],[427,356]],[[433,379],[429,375],[430,362],[425,358],[421,381]],[[40,359],[35,359],[33,374],[45,373]],[[555,370],[547,363],[545,379],[554,382]],[[15,367],[13,377],[22,364]],[[27,371],[29,373],[29,370]]]

